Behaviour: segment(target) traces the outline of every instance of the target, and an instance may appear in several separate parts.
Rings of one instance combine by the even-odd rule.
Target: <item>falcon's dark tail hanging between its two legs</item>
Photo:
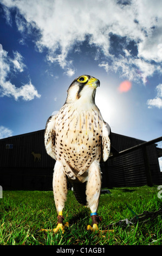
[[[74,189],[75,198],[76,198],[77,202],[79,202],[82,205],[87,205],[86,185],[87,185],[87,182],[83,182],[83,183],[73,182],[73,184],[72,184],[73,189]]]

